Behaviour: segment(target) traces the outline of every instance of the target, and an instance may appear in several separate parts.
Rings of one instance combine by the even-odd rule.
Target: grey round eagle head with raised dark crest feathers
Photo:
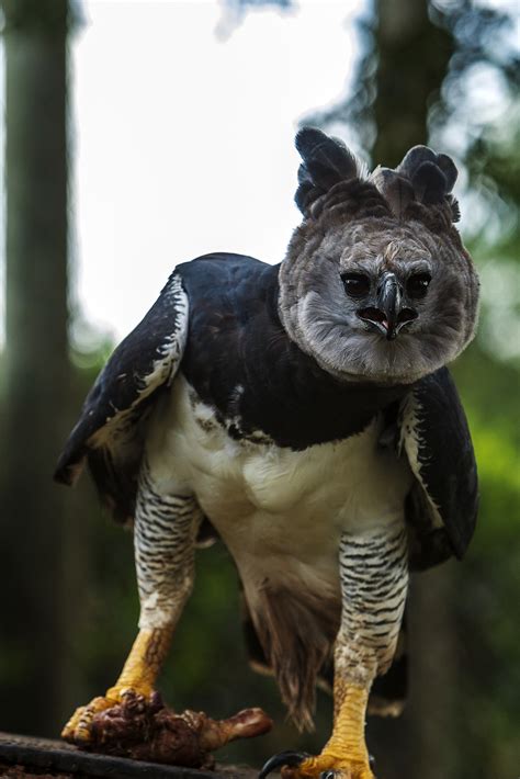
[[[450,157],[415,146],[395,169],[361,166],[306,127],[296,203],[304,219],[280,269],[290,336],[339,379],[409,384],[473,338],[478,279],[453,225]]]

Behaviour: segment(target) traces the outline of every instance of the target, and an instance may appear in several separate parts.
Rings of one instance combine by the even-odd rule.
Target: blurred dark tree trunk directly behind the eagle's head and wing
[[[374,49],[376,138],[374,163],[397,165],[428,142],[428,112],[453,50],[436,26],[427,0],[377,0]],[[376,755],[387,756],[388,779],[457,779],[456,572],[444,565],[412,577],[409,599],[410,696],[400,722],[371,723]]]

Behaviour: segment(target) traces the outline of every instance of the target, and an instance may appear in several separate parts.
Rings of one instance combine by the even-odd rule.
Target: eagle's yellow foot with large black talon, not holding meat
[[[259,779],[281,768],[283,779],[375,779],[371,758],[335,755],[323,752],[312,757],[301,752],[282,752],[265,763]]]

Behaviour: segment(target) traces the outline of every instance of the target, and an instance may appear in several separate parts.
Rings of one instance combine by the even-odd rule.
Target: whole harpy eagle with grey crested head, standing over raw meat
[[[408,574],[462,557],[477,510],[463,408],[445,368],[471,341],[478,282],[453,222],[450,157],[416,146],[363,174],[344,145],[296,137],[303,222],[285,259],[214,253],[176,268],[90,391],[59,460],[89,465],[134,523],[139,632],[97,711],[151,695],[211,523],[244,587],[255,663],[295,722],[331,677],[321,754],[262,775],[373,777],[366,711],[398,710]]]

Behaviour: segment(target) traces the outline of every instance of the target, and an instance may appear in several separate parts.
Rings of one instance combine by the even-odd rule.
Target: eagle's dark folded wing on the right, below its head
[[[416,484],[407,504],[411,566],[463,556],[475,530],[478,482],[472,439],[448,369],[422,379],[402,403],[400,447]]]

